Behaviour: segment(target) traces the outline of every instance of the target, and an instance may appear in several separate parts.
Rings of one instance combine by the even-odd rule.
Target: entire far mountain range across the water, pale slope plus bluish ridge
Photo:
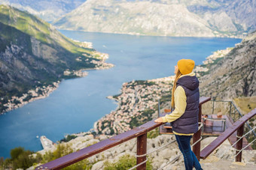
[[[87,0],[60,29],[185,37],[233,37],[256,29],[256,0]]]

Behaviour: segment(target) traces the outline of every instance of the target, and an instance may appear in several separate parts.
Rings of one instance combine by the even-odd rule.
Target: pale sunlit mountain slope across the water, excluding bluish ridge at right
[[[54,23],[61,29],[125,34],[214,36],[185,4],[90,0]]]

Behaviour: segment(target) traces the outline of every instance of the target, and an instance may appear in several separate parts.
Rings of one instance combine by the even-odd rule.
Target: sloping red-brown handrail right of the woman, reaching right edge
[[[224,133],[221,133],[221,135],[218,136],[217,139],[215,139],[212,143],[207,145],[206,148],[204,148],[203,151],[201,151],[200,157],[206,159],[206,157],[208,157],[209,154],[212,154],[212,151],[215,151],[215,149],[218,148],[219,145],[221,145],[237,129],[239,129],[239,127],[245,124],[245,122],[252,118],[254,115],[256,115],[256,109],[253,109],[251,112],[244,115],[242,118],[239,118],[239,120],[236,121],[232,127],[229,127],[227,130],[224,131]]]

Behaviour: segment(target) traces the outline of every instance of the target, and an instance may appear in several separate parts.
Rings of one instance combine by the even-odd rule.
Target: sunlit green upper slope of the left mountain
[[[35,37],[43,43],[51,44],[58,43],[69,52],[81,54],[95,51],[94,49],[81,48],[81,43],[70,40],[68,37],[60,34],[52,26],[39,19],[37,16],[32,16],[26,11],[17,10],[14,7],[0,5],[0,21],[5,25],[11,25],[18,30]]]

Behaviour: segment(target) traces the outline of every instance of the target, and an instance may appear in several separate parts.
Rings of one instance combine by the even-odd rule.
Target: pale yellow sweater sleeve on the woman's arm
[[[187,107],[187,97],[184,91],[184,88],[181,86],[178,86],[178,88],[174,91],[174,102],[175,102],[175,109],[174,111],[169,114],[162,117],[163,122],[172,122],[176,119],[180,118],[181,115],[184,114],[185,109]]]

